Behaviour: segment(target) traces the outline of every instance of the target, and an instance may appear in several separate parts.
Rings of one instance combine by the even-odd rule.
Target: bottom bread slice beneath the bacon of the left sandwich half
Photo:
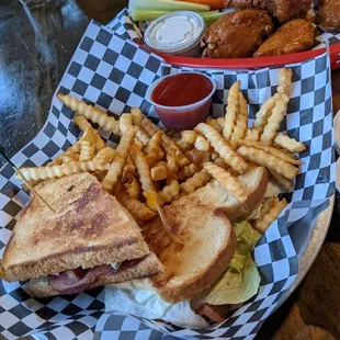
[[[128,280],[149,277],[155,274],[161,273],[162,271],[163,265],[161,264],[161,262],[157,259],[155,253],[149,253],[141,262],[138,262],[134,267],[127,268],[123,271],[118,271],[114,274],[98,277],[95,284],[90,286],[89,288],[94,288],[97,286],[124,282]],[[55,296],[60,294],[48,284],[47,276],[31,279],[27,283],[26,291],[32,296],[37,297]]]

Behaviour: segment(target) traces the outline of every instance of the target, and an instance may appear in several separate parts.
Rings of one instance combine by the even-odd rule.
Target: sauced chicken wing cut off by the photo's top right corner
[[[316,20],[326,31],[340,30],[340,0],[319,0]]]

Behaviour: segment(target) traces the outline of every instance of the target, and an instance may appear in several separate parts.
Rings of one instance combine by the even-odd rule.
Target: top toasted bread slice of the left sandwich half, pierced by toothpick
[[[42,182],[36,190],[56,213],[32,197],[5,247],[2,279],[27,280],[149,253],[134,218],[95,177],[72,174]]]

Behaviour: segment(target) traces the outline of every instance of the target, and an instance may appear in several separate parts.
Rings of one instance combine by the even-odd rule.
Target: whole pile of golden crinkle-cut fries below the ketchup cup
[[[33,185],[45,179],[89,171],[138,223],[154,218],[157,207],[213,179],[242,203],[247,191],[236,177],[257,166],[265,167],[284,189],[292,190],[301,163],[293,154],[304,151],[305,146],[277,133],[290,101],[291,79],[290,69],[279,71],[277,92],[261,105],[252,128],[248,127],[247,101],[239,81],[229,90],[224,117],[208,118],[193,131],[182,132],[156,126],[139,109],[115,120],[59,93],[59,100],[77,113],[73,120],[83,134],[46,167],[21,171]],[[117,148],[105,145],[91,123],[118,135]],[[286,204],[277,197],[267,202],[253,226],[264,233]]]

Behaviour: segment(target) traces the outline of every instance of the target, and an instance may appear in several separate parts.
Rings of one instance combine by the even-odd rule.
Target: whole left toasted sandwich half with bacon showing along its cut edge
[[[75,294],[147,277],[162,264],[129,213],[89,173],[48,180],[22,209],[0,262],[5,281],[30,280],[34,296]]]

